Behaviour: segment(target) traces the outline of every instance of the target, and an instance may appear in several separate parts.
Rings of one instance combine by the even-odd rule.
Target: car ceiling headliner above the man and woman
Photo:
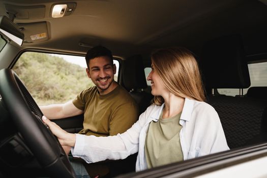
[[[51,17],[55,3],[76,2],[70,16]],[[39,19],[17,19],[16,23],[46,21],[49,39],[44,42],[24,43],[23,48],[39,48],[73,53],[85,53],[88,47],[102,44],[117,56],[146,53],[153,48],[182,45],[191,50],[200,49],[204,41],[230,33],[242,33],[248,54],[258,52],[248,45],[254,41],[263,43],[266,8],[259,1],[187,1],[187,0],[89,0],[89,1],[0,1],[0,14],[7,15],[5,5],[45,6],[45,14]],[[8,15],[7,15],[8,16]],[[255,26],[258,27],[255,30]],[[33,29],[34,30],[34,29]],[[258,41],[261,38],[262,41]],[[256,51],[255,51],[256,50]]]

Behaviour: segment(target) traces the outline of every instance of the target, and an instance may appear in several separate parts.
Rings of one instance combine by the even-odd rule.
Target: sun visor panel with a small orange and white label
[[[18,23],[24,33],[24,43],[37,43],[49,39],[47,22]]]

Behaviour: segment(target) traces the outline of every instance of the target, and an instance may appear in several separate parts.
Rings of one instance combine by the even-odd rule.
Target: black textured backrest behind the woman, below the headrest
[[[254,98],[215,96],[210,97],[207,102],[218,112],[231,149],[247,145],[253,138],[267,131],[266,103],[263,101]]]

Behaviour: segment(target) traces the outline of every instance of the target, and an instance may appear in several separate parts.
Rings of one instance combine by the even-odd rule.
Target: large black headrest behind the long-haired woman
[[[206,42],[202,48],[200,65],[206,88],[250,86],[248,64],[239,35],[224,36]]]

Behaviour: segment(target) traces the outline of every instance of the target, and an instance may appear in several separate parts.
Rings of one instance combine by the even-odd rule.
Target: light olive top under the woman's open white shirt
[[[181,113],[170,118],[152,121],[145,139],[145,158],[148,168],[183,161],[179,124]]]

